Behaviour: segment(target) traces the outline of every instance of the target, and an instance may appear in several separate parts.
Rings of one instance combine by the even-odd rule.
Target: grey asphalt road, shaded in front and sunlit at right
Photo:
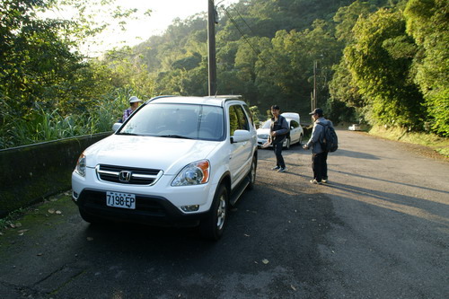
[[[92,226],[68,195],[0,235],[0,298],[447,298],[449,163],[338,131],[328,185],[311,156],[260,150],[256,188],[223,239],[193,229]]]

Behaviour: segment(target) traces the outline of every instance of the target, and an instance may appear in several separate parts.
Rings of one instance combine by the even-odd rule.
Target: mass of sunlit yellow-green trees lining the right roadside
[[[449,3],[410,0],[373,10],[356,1],[345,9],[359,17],[334,67],[332,100],[370,124],[449,136]]]

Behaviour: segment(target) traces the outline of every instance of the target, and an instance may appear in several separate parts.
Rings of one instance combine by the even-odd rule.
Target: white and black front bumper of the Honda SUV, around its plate
[[[209,211],[216,184],[172,187],[172,176],[162,176],[154,185],[132,185],[99,180],[94,169],[85,177],[72,173],[72,198],[80,212],[93,218],[163,226],[191,226]],[[108,207],[106,192],[134,194],[136,209]],[[198,206],[195,210],[185,207]]]

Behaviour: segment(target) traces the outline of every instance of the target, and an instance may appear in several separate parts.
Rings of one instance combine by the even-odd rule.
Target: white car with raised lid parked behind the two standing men
[[[290,148],[290,145],[295,145],[303,142],[304,130],[300,125],[300,117],[298,113],[295,112],[285,112],[281,114],[288,123],[290,127],[289,136],[286,137],[284,141],[284,147],[286,149]],[[263,123],[263,125],[257,130],[257,144],[261,147],[269,139],[269,127],[271,125],[271,119],[268,119]]]

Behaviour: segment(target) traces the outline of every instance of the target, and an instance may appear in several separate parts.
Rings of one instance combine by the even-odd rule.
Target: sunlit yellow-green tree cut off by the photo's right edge
[[[449,136],[449,3],[410,0],[404,11],[407,32],[418,44],[414,80],[426,100],[436,133]]]

